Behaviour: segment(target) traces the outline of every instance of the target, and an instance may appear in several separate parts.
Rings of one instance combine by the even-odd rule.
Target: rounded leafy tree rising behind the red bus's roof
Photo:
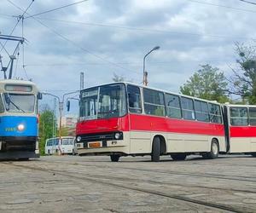
[[[224,73],[217,67],[202,65],[189,80],[180,87],[183,95],[191,95],[209,101],[229,101],[227,95],[228,83],[225,81]]]

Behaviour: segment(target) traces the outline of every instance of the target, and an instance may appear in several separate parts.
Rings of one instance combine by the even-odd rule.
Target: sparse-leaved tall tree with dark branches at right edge
[[[240,95],[243,102],[256,104],[256,49],[236,43],[238,68],[231,68],[230,93]]]

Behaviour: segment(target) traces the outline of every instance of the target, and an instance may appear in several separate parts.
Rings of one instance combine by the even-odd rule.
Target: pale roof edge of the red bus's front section
[[[165,89],[156,89],[156,88],[153,88],[153,87],[148,87],[148,86],[144,86],[144,85],[141,85],[141,84],[138,84],[138,83],[131,83],[131,82],[103,83],[103,84],[96,85],[96,86],[93,86],[93,87],[90,87],[90,88],[99,87],[99,86],[107,86],[107,85],[116,84],[116,83],[130,84],[130,85],[134,85],[134,86],[145,88],[145,89],[153,89],[153,90],[157,90],[157,91],[164,92],[164,93],[167,93],[167,94],[183,96],[183,97],[192,98],[192,99],[195,99],[195,100],[198,100],[198,101],[207,101],[207,102],[212,103],[212,104],[221,105],[220,103],[218,103],[218,101],[208,101],[206,99],[201,99],[201,98],[197,98],[197,97],[193,97],[193,96],[189,96],[189,95],[178,94],[178,93],[174,93],[174,92],[171,92],[171,91],[168,91],[168,90],[165,90]],[[85,89],[90,89],[90,88],[85,88]],[[84,89],[82,89],[81,91],[83,91],[83,90]]]

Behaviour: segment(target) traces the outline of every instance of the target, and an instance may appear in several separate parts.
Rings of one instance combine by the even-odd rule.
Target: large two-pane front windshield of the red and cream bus
[[[82,91],[80,117],[86,120],[117,118],[125,113],[124,84],[110,84]]]

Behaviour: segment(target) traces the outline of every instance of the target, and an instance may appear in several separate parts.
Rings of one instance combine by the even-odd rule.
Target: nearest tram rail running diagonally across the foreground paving
[[[0,163],[0,164],[9,164],[9,163]],[[96,184],[102,184],[102,185],[106,185],[106,186],[110,186],[110,187],[118,187],[118,188],[123,188],[123,189],[128,189],[128,190],[132,190],[132,191],[136,191],[136,192],[140,192],[140,193],[148,193],[148,194],[152,194],[152,195],[157,195],[160,197],[165,197],[165,198],[169,198],[169,199],[176,199],[179,201],[183,201],[183,202],[187,202],[190,204],[196,204],[196,205],[201,205],[201,206],[205,206],[207,208],[212,208],[214,210],[225,210],[225,211],[229,211],[229,212],[236,212],[236,213],[251,213],[253,212],[253,210],[245,208],[245,207],[241,207],[241,208],[237,208],[228,204],[216,204],[214,202],[207,202],[207,201],[202,201],[202,200],[198,200],[198,199],[191,199],[188,198],[186,196],[183,195],[177,195],[174,193],[165,193],[165,192],[160,192],[159,190],[152,190],[152,189],[145,189],[142,187],[136,187],[136,186],[132,186],[131,184],[120,184],[120,183],[114,183],[112,181],[108,181],[108,178],[113,178],[113,177],[108,177],[107,181],[104,181],[104,176],[84,176],[84,174],[82,173],[67,173],[61,170],[53,170],[53,169],[46,169],[46,168],[42,168],[42,167],[35,167],[34,165],[24,165],[24,164],[9,164],[11,166],[17,167],[17,168],[23,168],[23,169],[27,169],[27,170],[39,170],[39,171],[44,171],[50,174],[55,174],[55,175],[59,175],[59,176],[66,176],[69,178],[73,178],[73,179],[77,179],[77,180],[82,180],[82,181],[90,181],[92,183],[96,183]],[[82,175],[82,176],[81,176]],[[105,177],[106,179],[106,177]],[[118,178],[114,178],[113,180],[118,180]],[[134,180],[131,180],[134,181]]]

